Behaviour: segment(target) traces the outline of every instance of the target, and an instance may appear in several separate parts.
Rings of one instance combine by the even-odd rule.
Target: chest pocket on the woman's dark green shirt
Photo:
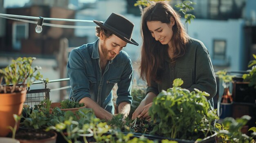
[[[193,70],[192,68],[177,68],[177,78],[183,80],[182,88],[189,88],[193,84]]]

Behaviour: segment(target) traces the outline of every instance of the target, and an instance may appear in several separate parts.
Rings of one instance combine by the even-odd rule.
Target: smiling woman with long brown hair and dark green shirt
[[[132,119],[150,119],[148,109],[153,98],[171,88],[176,78],[184,81],[182,88],[208,92],[207,99],[213,106],[217,86],[209,52],[201,41],[186,34],[180,16],[168,2],[144,9],[141,35],[140,77],[147,81],[148,88]]]

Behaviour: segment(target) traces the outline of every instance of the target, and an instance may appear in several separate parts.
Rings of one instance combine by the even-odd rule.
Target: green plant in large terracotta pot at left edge
[[[40,67],[31,67],[34,59],[19,57],[6,68],[0,69],[0,136],[7,136],[11,132],[7,127],[15,125],[13,114],[21,114],[27,88],[43,77],[36,72]]]

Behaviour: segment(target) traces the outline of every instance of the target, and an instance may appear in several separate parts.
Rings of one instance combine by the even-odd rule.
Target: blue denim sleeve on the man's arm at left
[[[80,101],[84,97],[90,96],[90,83],[85,69],[86,61],[79,54],[78,49],[73,49],[67,63],[67,72],[70,77],[72,88],[71,97],[74,101]]]

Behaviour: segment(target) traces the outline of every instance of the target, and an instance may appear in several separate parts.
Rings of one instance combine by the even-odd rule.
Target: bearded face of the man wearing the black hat
[[[127,42],[112,34],[110,37],[103,38],[101,51],[105,59],[112,60],[123,50],[126,44]]]

